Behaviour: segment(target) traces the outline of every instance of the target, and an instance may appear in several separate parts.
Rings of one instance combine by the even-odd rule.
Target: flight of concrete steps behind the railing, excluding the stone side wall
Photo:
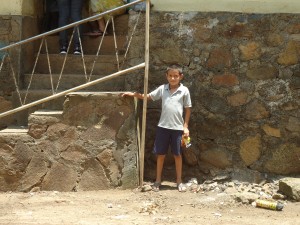
[[[85,27],[86,30],[87,28]],[[128,32],[128,15],[121,15],[115,18],[115,32],[116,32],[116,43],[117,43],[117,51],[119,64],[122,64],[124,58],[123,54],[125,52],[125,45],[127,40],[127,32]],[[73,87],[76,87],[80,84],[84,84],[86,82],[86,77],[91,77],[91,80],[95,80],[105,75],[112,74],[118,71],[114,37],[112,25],[110,24],[108,27],[108,35],[104,37],[103,43],[101,45],[101,49],[99,52],[99,56],[96,58],[96,53],[99,47],[99,43],[101,40],[101,36],[98,37],[90,37],[90,36],[82,36],[82,46],[84,53],[84,62],[86,67],[86,75],[83,66],[83,60],[81,55],[73,55],[72,46],[70,47],[70,53],[67,56],[66,63],[64,66],[64,70],[59,82],[59,87],[57,92],[61,92]],[[65,59],[65,55],[60,55],[59,53],[59,40],[58,35],[51,35],[46,38],[48,45],[48,53],[49,60],[51,66],[53,87],[56,88],[57,82],[59,80],[62,65]],[[40,43],[40,42],[39,42]],[[39,43],[35,43],[35,52],[38,52]],[[31,66],[25,65],[25,73],[22,77],[22,89],[20,90],[20,95],[22,99],[26,94],[26,89],[31,79],[31,73],[34,62],[31,60]],[[93,69],[93,73],[90,76],[91,69],[94,61],[95,66]],[[81,91],[121,91],[124,90],[124,76],[105,81],[103,83],[91,86]],[[26,104],[42,99],[44,97],[50,96],[52,94],[51,82],[50,82],[50,73],[49,66],[47,60],[47,54],[45,51],[45,47],[42,47],[42,51],[40,57],[37,61],[37,65],[35,68],[35,73],[32,77],[31,86],[29,89],[29,93],[26,97]],[[46,102],[42,105],[38,105],[32,107],[24,112],[18,113],[16,117],[16,125],[26,126],[28,122],[28,115],[38,109],[47,109],[47,110],[61,110],[64,98],[58,98],[56,100],[52,100],[50,102]],[[13,107],[20,106],[20,100],[17,93],[13,94]]]

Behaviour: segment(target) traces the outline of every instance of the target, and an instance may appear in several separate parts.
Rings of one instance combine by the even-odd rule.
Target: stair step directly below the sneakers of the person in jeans
[[[64,59],[66,63],[64,66],[64,74],[84,74],[84,64],[81,55],[60,55],[60,54],[49,54],[49,61],[51,66],[52,74],[60,74]],[[87,73],[90,73],[92,66],[95,62],[93,74],[107,75],[117,72],[117,59],[115,55],[100,55],[98,58],[95,55],[84,55],[84,62]],[[123,56],[119,56],[119,63],[123,62]],[[32,73],[32,69],[27,70],[25,73]],[[49,74],[49,65],[46,54],[41,54],[37,62],[35,73],[46,73]]]

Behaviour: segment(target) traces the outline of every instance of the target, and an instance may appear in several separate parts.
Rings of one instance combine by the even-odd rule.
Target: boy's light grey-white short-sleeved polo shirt
[[[150,92],[149,96],[153,101],[162,100],[162,111],[158,126],[183,130],[183,108],[192,107],[189,89],[180,84],[178,89],[171,94],[169,84],[164,84]]]

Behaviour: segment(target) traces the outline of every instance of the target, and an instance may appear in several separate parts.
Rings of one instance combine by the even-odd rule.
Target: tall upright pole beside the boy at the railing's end
[[[144,158],[145,158],[145,134],[146,134],[146,115],[147,115],[147,93],[149,77],[149,39],[150,39],[150,0],[146,0],[146,26],[145,26],[145,77],[144,77],[144,101],[143,101],[143,118],[142,134],[140,146],[140,186],[144,182]]]

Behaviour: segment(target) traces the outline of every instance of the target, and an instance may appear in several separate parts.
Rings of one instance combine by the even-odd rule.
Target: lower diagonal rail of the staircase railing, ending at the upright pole
[[[78,90],[84,89],[84,88],[86,88],[86,87],[93,86],[93,85],[95,85],[95,84],[98,84],[98,83],[101,83],[101,82],[104,82],[104,81],[113,79],[113,78],[115,78],[115,77],[118,77],[118,76],[120,76],[120,75],[129,73],[129,72],[132,72],[132,71],[137,70],[137,69],[142,69],[142,68],[144,68],[144,67],[145,67],[145,63],[141,63],[141,64],[136,65],[136,66],[133,66],[133,67],[131,67],[131,68],[128,68],[128,69],[121,70],[121,71],[119,71],[119,72],[113,73],[113,74],[108,75],[108,76],[106,76],[106,77],[99,78],[99,79],[97,79],[97,80],[93,80],[93,81],[91,81],[91,82],[88,82],[88,83],[82,84],[82,85],[80,85],[80,86],[77,86],[77,87],[68,89],[68,90],[66,90],[66,91],[59,92],[59,93],[54,94],[54,95],[51,95],[51,96],[49,96],[49,97],[46,97],[46,98],[43,98],[43,99],[40,99],[40,100],[31,102],[31,103],[26,104],[26,105],[22,105],[22,106],[20,106],[20,107],[18,107],[18,108],[15,108],[15,109],[6,111],[6,112],[4,112],[4,113],[1,113],[1,114],[0,114],[0,118],[5,117],[5,116],[8,116],[8,115],[11,115],[11,114],[16,113],[16,112],[19,112],[19,111],[22,111],[22,110],[24,110],[24,109],[28,109],[28,108],[30,108],[30,107],[32,107],[32,106],[39,105],[39,104],[42,104],[42,103],[44,103],[44,102],[48,102],[48,101],[50,101],[50,100],[53,100],[53,99],[56,99],[56,98],[65,96],[66,94],[68,94],[68,93],[70,93],[70,92],[78,91]]]

